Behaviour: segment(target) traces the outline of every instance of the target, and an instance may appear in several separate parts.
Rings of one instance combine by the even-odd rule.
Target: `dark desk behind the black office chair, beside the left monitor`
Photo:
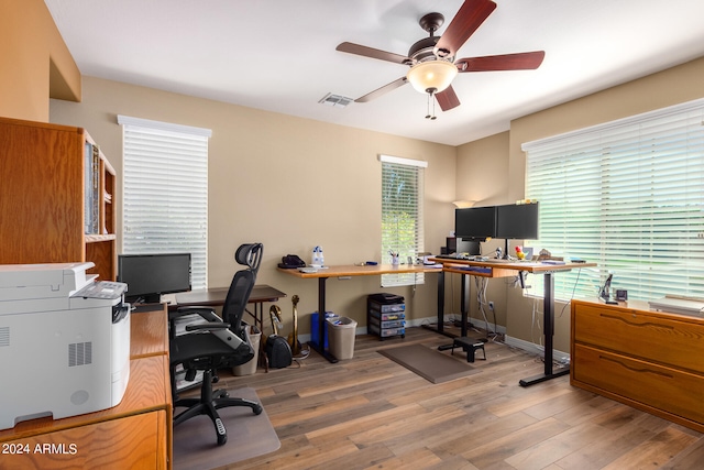
[[[176,294],[176,303],[168,306],[169,310],[175,310],[178,307],[193,307],[204,306],[213,307],[224,304],[224,299],[228,295],[229,287],[213,287],[200,291],[191,291]],[[264,303],[276,302],[282,297],[286,297],[286,294],[277,288],[274,288],[266,284],[257,284],[252,288],[250,295],[250,304],[254,304],[254,314],[246,310],[254,318],[254,325],[260,328],[260,331],[264,331]]]

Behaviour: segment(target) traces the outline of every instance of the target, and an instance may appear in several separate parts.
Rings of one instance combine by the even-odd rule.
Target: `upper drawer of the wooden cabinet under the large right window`
[[[573,341],[704,373],[704,321],[575,302]]]

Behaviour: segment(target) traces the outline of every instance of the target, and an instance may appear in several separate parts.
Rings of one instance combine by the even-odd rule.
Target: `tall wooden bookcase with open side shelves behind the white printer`
[[[96,168],[87,172],[94,150]],[[92,261],[90,273],[114,281],[116,172],[90,135],[0,118],[0,264]],[[90,174],[95,190],[86,187]],[[95,229],[86,230],[94,214]]]

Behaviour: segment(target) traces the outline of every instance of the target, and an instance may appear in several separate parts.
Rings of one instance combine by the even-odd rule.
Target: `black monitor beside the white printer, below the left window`
[[[128,302],[152,304],[162,294],[190,291],[190,253],[120,254],[118,281]]]

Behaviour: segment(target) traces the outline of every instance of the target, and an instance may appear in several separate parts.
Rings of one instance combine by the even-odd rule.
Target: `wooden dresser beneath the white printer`
[[[172,394],[165,305],[131,316],[130,382],[119,405],[0,430],[0,469],[169,469]],[[10,380],[11,381],[11,380]],[[46,393],[52,393],[46,384]]]

